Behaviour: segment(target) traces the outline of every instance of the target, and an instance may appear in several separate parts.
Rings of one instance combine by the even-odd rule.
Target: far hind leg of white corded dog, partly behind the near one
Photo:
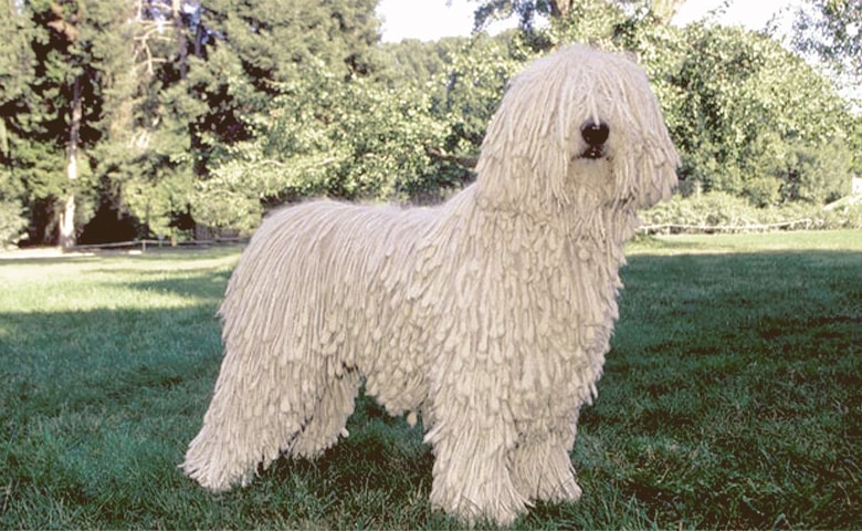
[[[353,369],[325,378],[307,423],[291,444],[291,455],[313,459],[335,445],[339,435],[347,435],[345,426],[354,413],[360,383],[359,373]]]

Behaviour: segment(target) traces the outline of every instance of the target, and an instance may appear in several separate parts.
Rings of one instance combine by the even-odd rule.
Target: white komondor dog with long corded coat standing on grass
[[[643,71],[572,46],[509,84],[472,186],[432,209],[314,201],[269,216],[221,306],[225,356],[185,471],[245,485],[347,436],[359,386],[433,448],[434,507],[509,523],[581,490],[638,207],[677,156]]]

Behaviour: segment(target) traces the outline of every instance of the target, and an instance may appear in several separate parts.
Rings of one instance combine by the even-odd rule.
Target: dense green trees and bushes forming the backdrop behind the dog
[[[638,55],[684,195],[817,208],[862,169],[858,107],[828,77],[766,33],[671,25],[676,0],[477,0],[477,28],[521,27],[399,44],[378,42],[376,3],[3,3],[0,241],[248,232],[311,196],[438,201],[472,178],[506,80],[575,41]],[[858,70],[845,3],[812,0],[796,45]]]

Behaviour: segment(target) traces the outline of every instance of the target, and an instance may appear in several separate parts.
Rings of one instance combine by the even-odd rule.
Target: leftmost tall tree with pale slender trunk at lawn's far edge
[[[34,242],[74,244],[81,199],[91,199],[91,149],[104,136],[104,104],[123,46],[125,1],[15,2],[30,31],[20,50],[33,58],[32,75],[7,115],[9,156],[20,195],[34,223]],[[85,201],[86,204],[87,201]]]

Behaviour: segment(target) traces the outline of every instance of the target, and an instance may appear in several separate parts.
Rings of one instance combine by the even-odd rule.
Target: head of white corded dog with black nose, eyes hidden
[[[670,197],[679,158],[646,75],[586,46],[533,62],[506,90],[479,165],[497,209],[587,215]]]

